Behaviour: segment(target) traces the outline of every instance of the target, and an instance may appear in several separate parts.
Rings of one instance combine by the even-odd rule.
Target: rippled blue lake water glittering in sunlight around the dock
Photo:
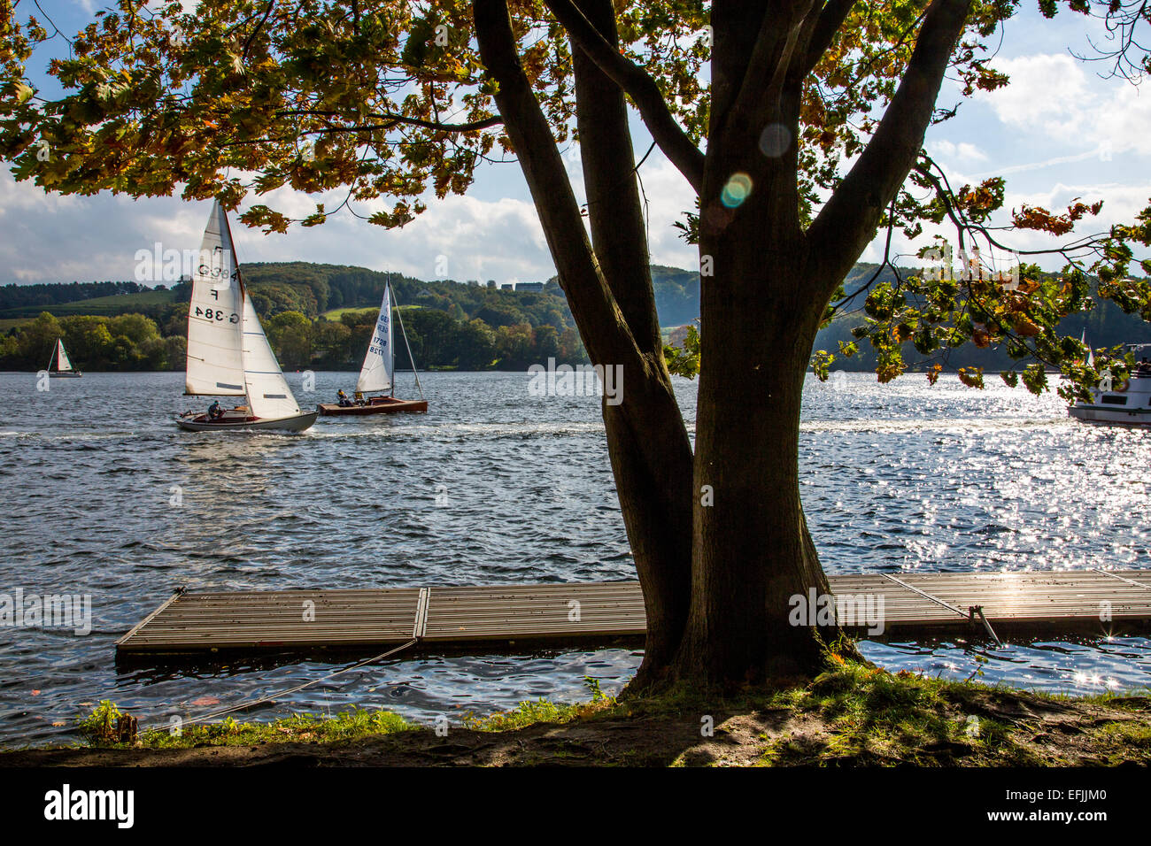
[[[402,396],[414,394],[401,375]],[[182,433],[182,373],[0,374],[0,593],[91,594],[86,637],[0,627],[0,744],[68,740],[109,699],[167,723],[336,669],[291,660],[117,670],[114,642],[171,590],[634,578],[595,397],[533,397],[524,373],[422,375],[427,416],[321,418],[300,435]],[[992,384],[997,380],[990,380]],[[319,373],[303,404],[351,374]],[[689,426],[695,386],[677,380]],[[829,572],[1151,567],[1151,432],[1067,418],[1054,395],[922,375],[809,381],[803,502]],[[1067,693],[1151,683],[1143,638],[864,642],[892,668]],[[986,658],[986,663],[978,658]],[[250,718],[386,707],[430,722],[618,691],[627,649],[404,657]]]

